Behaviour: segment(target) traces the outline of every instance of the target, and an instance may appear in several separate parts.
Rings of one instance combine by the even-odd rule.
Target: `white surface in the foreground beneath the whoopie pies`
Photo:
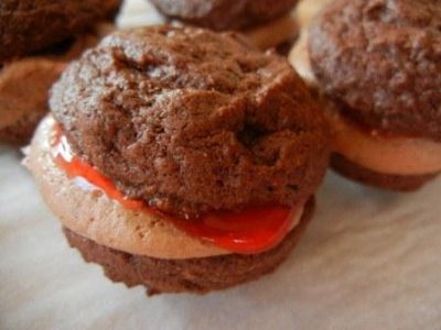
[[[0,329],[441,329],[440,197],[441,179],[398,195],[330,174],[273,275],[147,298],[67,248],[19,154],[0,146]]]

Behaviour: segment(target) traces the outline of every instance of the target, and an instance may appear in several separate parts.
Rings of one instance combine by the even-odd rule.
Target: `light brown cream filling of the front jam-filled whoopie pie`
[[[53,161],[49,144],[53,125],[52,117],[42,121],[24,163],[63,226],[98,244],[137,255],[191,258],[232,253],[187,235],[158,216],[126,209],[104,194],[80,188]],[[302,213],[299,208],[293,215],[292,228]]]

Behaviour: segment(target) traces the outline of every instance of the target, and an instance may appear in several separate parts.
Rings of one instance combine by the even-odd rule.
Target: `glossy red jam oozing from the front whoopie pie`
[[[161,215],[176,228],[192,237],[241,254],[255,254],[277,245],[289,232],[293,221],[293,209],[289,207],[259,207],[238,212],[212,212],[197,220],[186,220],[163,215],[148,207],[143,201],[126,198],[96,167],[82,161],[71,152],[66,136],[60,127],[54,130],[52,140],[56,164],[69,178],[86,180],[92,189],[104,191],[110,199],[117,200],[131,210],[142,210],[151,215]]]

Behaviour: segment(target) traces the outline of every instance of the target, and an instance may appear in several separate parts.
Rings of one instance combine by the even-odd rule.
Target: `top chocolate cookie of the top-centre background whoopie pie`
[[[165,16],[216,31],[240,30],[288,14],[298,0],[150,0]]]

